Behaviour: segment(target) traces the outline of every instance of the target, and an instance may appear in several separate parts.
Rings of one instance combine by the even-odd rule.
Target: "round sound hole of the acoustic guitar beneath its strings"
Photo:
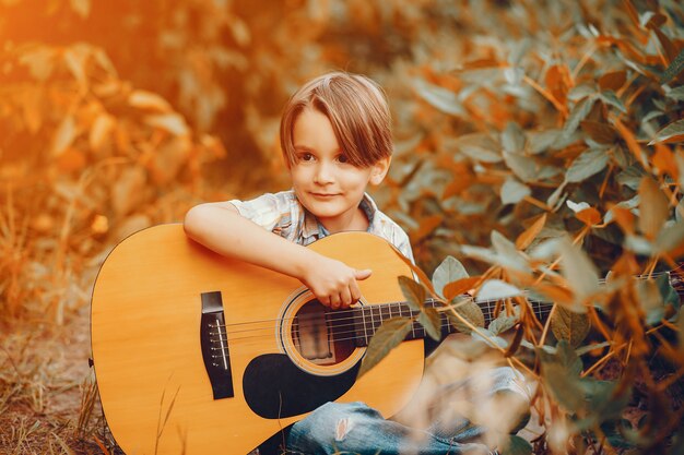
[[[349,310],[334,311],[318,300],[306,302],[292,324],[295,349],[311,363],[340,363],[354,351],[354,323]]]

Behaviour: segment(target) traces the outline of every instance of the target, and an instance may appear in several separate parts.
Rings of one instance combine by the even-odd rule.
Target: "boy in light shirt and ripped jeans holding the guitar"
[[[362,230],[385,238],[413,260],[406,234],[365,193],[368,184],[380,184],[391,160],[387,100],[365,76],[325,74],[285,105],[280,140],[292,190],[198,205],[186,215],[186,232],[221,254],[299,279],[325,306],[347,308],[361,298],[356,280],[372,271],[354,270],[305,246],[329,234]],[[333,440],[340,436],[341,422],[349,424]],[[398,454],[415,447],[405,442],[409,431],[361,403],[328,404],[293,426],[287,450]],[[474,446],[431,436],[421,442],[421,453]]]

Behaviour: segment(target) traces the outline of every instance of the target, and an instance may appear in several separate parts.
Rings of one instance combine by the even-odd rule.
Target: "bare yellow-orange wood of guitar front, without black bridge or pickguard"
[[[365,303],[403,300],[397,276],[411,272],[385,240],[344,232],[309,248],[372,268],[372,277],[359,282]],[[149,228],[117,246],[95,283],[91,330],[103,409],[121,448],[129,455],[244,454],[306,417],[262,417],[244,390],[253,359],[282,355],[274,320],[300,289],[294,278],[209,251],[181,225]],[[216,291],[226,325],[266,321],[253,335],[228,339],[233,395],[220,399],[200,346],[201,295]],[[405,405],[422,373],[423,342],[405,342],[337,400],[363,400],[389,417]]]

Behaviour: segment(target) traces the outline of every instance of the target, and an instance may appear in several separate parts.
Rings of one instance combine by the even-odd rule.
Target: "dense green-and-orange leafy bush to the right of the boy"
[[[459,328],[542,384],[534,453],[677,451],[681,272],[661,271],[684,253],[684,12],[618,4],[510,5],[496,27],[464,20],[460,48],[405,69],[399,109],[420,115],[400,118],[402,191],[385,202],[427,267],[453,254],[482,271],[463,287],[462,272],[444,278],[463,268],[448,259],[422,282]],[[497,300],[503,319],[479,328],[449,287]],[[538,300],[554,302],[549,319]],[[636,396],[648,411],[624,420]]]

